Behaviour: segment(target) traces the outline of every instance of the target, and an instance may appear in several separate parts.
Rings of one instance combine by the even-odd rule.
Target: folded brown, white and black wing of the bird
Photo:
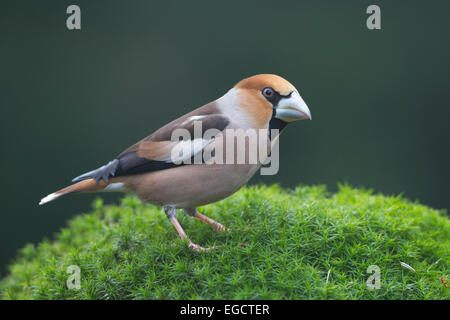
[[[202,114],[202,109],[172,121],[123,151],[107,165],[78,176],[72,181],[93,178],[97,182],[100,179],[108,182],[111,176],[164,170],[189,163],[186,160],[192,160],[197,153],[213,142],[214,138],[204,138],[205,131],[215,129],[216,132],[222,132],[230,123],[229,118],[223,114],[207,112]],[[183,136],[182,140],[173,140],[180,136]],[[178,153],[173,154],[173,150]]]

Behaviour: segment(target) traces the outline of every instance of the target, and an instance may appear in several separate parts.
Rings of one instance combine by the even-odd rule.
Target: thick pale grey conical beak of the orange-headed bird
[[[312,120],[311,111],[297,91],[287,98],[282,98],[275,111],[275,118],[285,122],[296,120]]]

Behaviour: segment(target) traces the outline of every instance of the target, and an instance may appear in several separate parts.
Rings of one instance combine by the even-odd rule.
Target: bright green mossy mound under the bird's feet
[[[448,299],[450,223],[402,197],[340,186],[256,186],[200,209],[233,229],[179,214],[196,253],[160,208],[127,196],[94,202],[56,236],[23,248],[4,299]],[[244,244],[244,246],[241,246]],[[407,263],[416,272],[400,265]],[[81,288],[67,289],[67,268]],[[367,268],[381,270],[369,290]],[[327,275],[329,277],[327,282]]]

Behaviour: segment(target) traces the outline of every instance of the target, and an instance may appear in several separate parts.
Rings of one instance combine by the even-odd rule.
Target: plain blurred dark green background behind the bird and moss
[[[81,31],[66,28],[69,4]],[[369,4],[382,30],[366,28]],[[314,120],[289,126],[279,174],[252,182],[348,181],[449,208],[449,12],[448,1],[2,1],[1,272],[95,197],[39,207],[43,196],[257,73],[292,82]]]

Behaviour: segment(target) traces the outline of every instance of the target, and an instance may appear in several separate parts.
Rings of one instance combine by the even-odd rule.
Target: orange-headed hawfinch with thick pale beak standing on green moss
[[[232,144],[231,149],[227,149],[227,141],[239,139],[239,135],[227,138],[228,132],[266,132],[258,137],[267,137],[267,141],[258,144],[256,149],[270,154],[279,137],[279,134],[271,133],[279,133],[288,123],[297,120],[312,120],[299,91],[281,76],[254,75],[237,82],[220,98],[164,125],[106,165],[74,178],[72,185],[49,194],[39,204],[79,192],[132,192],[144,202],[163,207],[181,240],[187,241],[190,249],[210,251],[214,247],[202,247],[188,237],[178,221],[177,210],[218,231],[230,231],[199,213],[197,207],[235,193],[267,159],[259,159],[256,163],[249,161],[250,144],[260,143],[261,138],[257,142],[247,140],[244,151],[237,150]],[[208,131],[214,134],[207,137]],[[174,139],[175,132],[187,134],[187,138]],[[209,158],[200,157],[199,160],[198,156],[208,150]],[[244,161],[236,161],[242,153]]]

